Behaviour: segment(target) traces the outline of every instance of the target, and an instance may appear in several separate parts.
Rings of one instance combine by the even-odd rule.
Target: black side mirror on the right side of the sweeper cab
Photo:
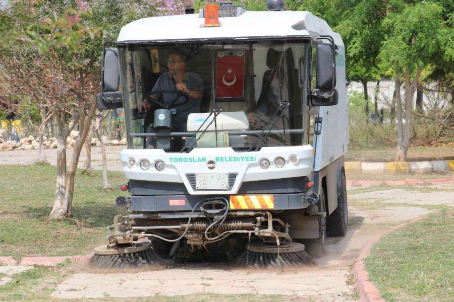
[[[316,64],[316,88],[311,92],[311,105],[333,106],[337,105],[338,93],[336,86],[336,65],[334,41],[331,43],[317,44]]]

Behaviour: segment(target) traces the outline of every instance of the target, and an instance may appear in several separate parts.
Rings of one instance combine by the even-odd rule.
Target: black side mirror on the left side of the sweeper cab
[[[115,47],[105,48],[108,43],[115,42],[106,41],[103,47],[101,93],[96,96],[96,104],[100,110],[116,109],[123,106],[122,93],[118,91],[120,84],[118,49]]]

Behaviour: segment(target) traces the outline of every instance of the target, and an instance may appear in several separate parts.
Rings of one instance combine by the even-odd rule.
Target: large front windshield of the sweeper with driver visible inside
[[[128,148],[301,145],[307,40],[119,47]]]

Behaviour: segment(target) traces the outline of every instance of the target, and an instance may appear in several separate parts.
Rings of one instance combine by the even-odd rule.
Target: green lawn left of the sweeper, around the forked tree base
[[[120,213],[119,189],[102,189],[101,173],[77,172],[73,217],[49,220],[55,193],[56,168],[43,165],[0,165],[0,256],[82,255],[105,237],[105,226]],[[125,183],[120,172],[109,173],[113,188]]]

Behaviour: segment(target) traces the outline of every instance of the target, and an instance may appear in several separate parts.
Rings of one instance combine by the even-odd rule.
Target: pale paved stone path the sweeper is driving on
[[[424,186],[437,190],[423,193],[407,190],[374,190],[349,194],[349,231],[343,238],[327,238],[327,254],[319,266],[285,270],[244,270],[198,263],[153,271],[93,272],[87,266],[56,287],[55,298],[100,298],[185,295],[198,293],[283,294],[309,301],[357,301],[351,283],[351,265],[361,250],[390,226],[432,212],[419,203],[454,206],[454,183]],[[348,188],[351,190],[352,188]],[[402,191],[402,192],[401,192]],[[405,192],[404,192],[405,191]],[[399,196],[410,196],[399,198]],[[415,196],[412,198],[411,196]],[[401,203],[402,206],[392,203]],[[364,204],[374,206],[367,208]]]

